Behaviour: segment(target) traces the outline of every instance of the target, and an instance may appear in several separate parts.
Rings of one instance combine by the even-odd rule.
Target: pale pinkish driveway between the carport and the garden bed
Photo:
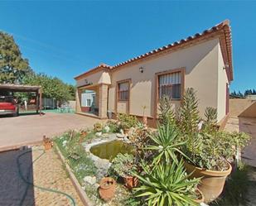
[[[0,117],[0,151],[37,143],[70,129],[93,127],[99,119],[74,113],[46,113]]]

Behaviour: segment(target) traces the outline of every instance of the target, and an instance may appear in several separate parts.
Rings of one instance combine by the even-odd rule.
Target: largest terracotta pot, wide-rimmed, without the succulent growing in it
[[[200,180],[200,184],[198,189],[202,192],[205,197],[205,203],[209,203],[215,199],[217,199],[225,185],[226,177],[231,173],[232,166],[229,165],[229,169],[225,171],[215,171],[215,170],[206,170],[200,167],[196,167],[195,165],[191,165],[185,162],[184,166],[186,168],[187,173],[191,174],[191,178],[202,178]]]

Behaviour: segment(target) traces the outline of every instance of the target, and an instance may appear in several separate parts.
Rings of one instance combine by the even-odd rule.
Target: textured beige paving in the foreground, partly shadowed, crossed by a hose
[[[42,153],[42,151],[36,151],[36,149],[38,149],[38,147],[34,147],[33,151],[30,149],[26,150],[29,152],[20,158],[20,168],[27,180],[41,187],[57,189],[66,194],[70,194],[70,196],[75,199],[77,206],[83,205],[56,153],[52,150],[46,151],[40,159],[36,160]],[[26,184],[21,179],[21,176],[18,175],[17,157],[23,152],[25,151],[7,151],[0,153],[0,205],[72,205],[70,204],[70,199],[67,199],[65,195],[37,189],[36,187]],[[30,167],[33,160],[36,160],[36,162]]]

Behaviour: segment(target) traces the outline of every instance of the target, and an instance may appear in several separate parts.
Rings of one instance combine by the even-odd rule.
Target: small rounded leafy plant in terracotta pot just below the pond
[[[132,172],[136,169],[133,155],[119,153],[118,156],[112,160],[112,165],[109,168],[109,175],[112,175],[117,179],[118,177],[122,177],[124,185],[128,189],[132,189],[138,184],[138,179],[132,175]]]

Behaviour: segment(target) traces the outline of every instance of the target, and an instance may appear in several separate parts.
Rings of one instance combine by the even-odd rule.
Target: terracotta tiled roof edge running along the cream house
[[[169,44],[167,46],[162,46],[156,50],[148,51],[147,53],[143,55],[138,55],[132,59],[123,61],[121,63],[118,63],[114,66],[109,66],[105,64],[101,64],[94,69],[89,69],[84,74],[80,74],[79,76],[76,76],[75,79],[79,79],[81,76],[84,76],[85,74],[89,74],[91,72],[97,71],[99,69],[109,69],[114,70],[118,69],[124,65],[128,65],[132,62],[142,60],[144,58],[147,58],[152,55],[158,55],[161,53],[166,53],[167,51],[174,50],[176,48],[181,48],[182,46],[191,45],[193,42],[197,42],[200,40],[204,40],[205,37],[212,37],[212,36],[219,36],[220,38],[220,46],[222,50],[222,55],[224,57],[225,65],[229,65],[229,71],[227,71],[229,81],[233,80],[233,64],[232,64],[232,40],[231,40],[231,28],[229,26],[229,20],[225,20],[224,22],[220,22],[220,24],[217,24],[210,29],[207,29],[201,33],[196,33],[194,36],[188,36],[185,39],[181,39],[180,41],[175,41],[172,44]]]

